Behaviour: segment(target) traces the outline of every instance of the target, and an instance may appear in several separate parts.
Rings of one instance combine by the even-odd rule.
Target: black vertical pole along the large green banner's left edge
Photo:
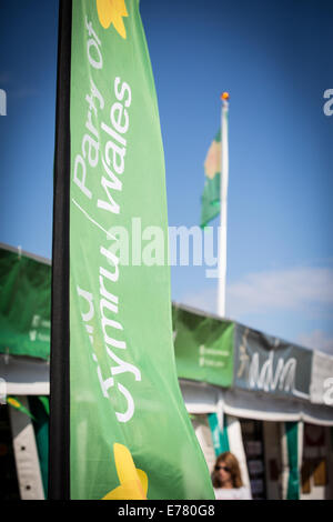
[[[72,0],[59,2],[50,360],[50,500],[70,499],[69,202]]]

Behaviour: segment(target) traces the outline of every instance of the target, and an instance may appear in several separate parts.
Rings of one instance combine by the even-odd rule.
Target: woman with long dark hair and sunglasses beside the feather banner
[[[216,500],[252,500],[243,485],[239,461],[230,451],[218,456],[212,482]]]

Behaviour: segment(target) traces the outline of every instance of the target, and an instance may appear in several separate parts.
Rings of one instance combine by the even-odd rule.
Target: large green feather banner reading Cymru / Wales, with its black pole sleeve
[[[178,384],[169,268],[138,259],[123,265],[108,233],[123,227],[132,244],[137,218],[142,230],[163,231],[167,252],[164,159],[139,1],[72,2],[70,138],[61,97],[69,78],[61,62],[68,60],[69,16],[68,3],[61,6],[50,498],[213,499]],[[62,170],[69,157],[67,200]],[[69,304],[61,270],[69,274]],[[62,419],[68,411],[69,426]],[[62,426],[69,431],[64,443]],[[68,446],[69,465],[59,471]]]

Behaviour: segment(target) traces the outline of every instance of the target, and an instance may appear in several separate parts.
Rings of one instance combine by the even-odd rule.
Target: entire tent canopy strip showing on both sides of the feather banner
[[[49,393],[51,265],[0,244],[0,377],[8,394]],[[333,425],[333,357],[173,304],[178,377],[188,410]]]

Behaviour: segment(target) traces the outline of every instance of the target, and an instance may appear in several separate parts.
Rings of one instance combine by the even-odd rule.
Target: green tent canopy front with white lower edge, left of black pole
[[[50,392],[51,262],[0,244],[0,378],[7,394]]]

